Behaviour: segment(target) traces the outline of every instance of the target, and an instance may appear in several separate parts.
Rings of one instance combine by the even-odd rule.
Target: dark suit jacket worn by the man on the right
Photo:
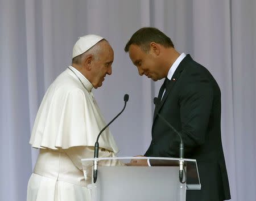
[[[179,157],[179,136],[157,113],[180,132],[184,157],[197,160],[201,190],[187,190],[187,201],[230,199],[221,143],[221,92],[210,72],[187,55],[155,107],[152,141],[145,156]]]

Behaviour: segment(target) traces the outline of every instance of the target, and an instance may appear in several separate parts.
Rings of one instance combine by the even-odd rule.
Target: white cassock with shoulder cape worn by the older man
[[[97,135],[106,123],[91,92],[93,85],[69,68],[73,72],[65,70],[50,85],[35,119],[30,144],[40,153],[28,181],[27,201],[90,200],[86,186],[91,172],[85,181],[81,159],[93,157]],[[98,142],[99,157],[118,152],[108,129]],[[105,165],[121,164],[106,161]]]

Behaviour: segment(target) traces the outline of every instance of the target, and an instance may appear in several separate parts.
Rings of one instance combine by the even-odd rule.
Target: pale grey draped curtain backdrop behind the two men
[[[94,90],[119,156],[143,154],[151,140],[153,98],[162,81],[140,77],[123,48],[152,26],[212,72],[222,92],[222,143],[232,200],[256,200],[255,0],[0,0],[0,200],[26,200],[37,151],[28,144],[49,84],[71,63],[77,37],[104,36],[113,74]]]

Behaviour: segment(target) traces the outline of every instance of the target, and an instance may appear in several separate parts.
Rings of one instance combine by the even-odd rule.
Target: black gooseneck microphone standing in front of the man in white
[[[125,106],[123,106],[123,109],[122,109],[122,111],[121,112],[119,112],[118,114],[117,114],[117,116],[115,116],[113,119],[112,119],[112,121],[110,121],[101,131],[100,131],[100,133],[98,134],[98,136],[97,136],[97,140],[96,140],[96,143],[95,143],[95,145],[94,145],[94,159],[95,158],[98,158],[98,146],[99,146],[99,144],[98,144],[98,138],[100,138],[100,135],[101,135],[101,133],[113,122],[113,121],[115,121],[115,119],[117,118],[117,117],[119,117],[119,115],[123,112],[123,110],[125,110],[125,107],[126,107],[126,102],[129,100],[129,95],[125,95],[125,96],[123,96],[123,100],[125,101]],[[93,162],[93,182],[95,183],[96,181],[97,181],[97,173],[98,173],[98,161],[97,160],[94,160],[94,162]]]

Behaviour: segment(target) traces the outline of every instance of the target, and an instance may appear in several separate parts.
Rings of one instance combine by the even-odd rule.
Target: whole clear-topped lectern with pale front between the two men
[[[126,166],[131,159],[149,160],[151,166]],[[98,161],[96,183],[93,183],[94,160]],[[92,201],[185,201],[186,190],[200,190],[201,184],[193,159],[183,159],[186,182],[179,181],[179,160],[164,157],[93,158],[82,159],[82,167]]]

